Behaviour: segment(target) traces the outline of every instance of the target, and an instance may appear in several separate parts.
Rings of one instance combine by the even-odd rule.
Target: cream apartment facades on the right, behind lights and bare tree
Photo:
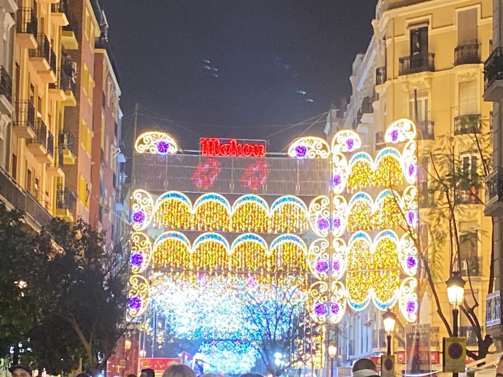
[[[477,154],[470,144],[471,132],[464,125],[468,119],[480,124],[477,133],[490,132],[492,104],[484,102],[483,61],[490,54],[492,38],[492,4],[487,0],[390,1],[380,0],[372,22],[374,35],[365,54],[357,55],[353,64],[352,97],[341,109],[344,128],[353,128],[361,135],[365,149],[375,153],[386,146],[383,132],[391,122],[412,119],[418,130],[419,154],[435,149],[441,140],[456,136],[455,154],[468,166],[477,166]],[[332,130],[333,132],[333,130]],[[480,161],[480,159],[478,159]],[[420,161],[420,189],[428,197],[428,169]],[[426,189],[425,189],[426,187]],[[461,271],[471,276],[473,296],[479,306],[477,318],[484,323],[485,296],[489,281],[491,252],[491,219],[484,215],[485,193],[477,191],[480,201],[470,194],[461,196],[466,214],[460,222],[461,230],[470,242],[460,248]],[[420,196],[422,196],[421,194]],[[428,198],[427,198],[428,199]],[[420,203],[421,243],[426,255],[432,253],[429,229],[429,209]],[[443,260],[451,260],[449,243],[440,249]],[[442,312],[452,323],[451,307],[447,300],[445,280],[449,277],[449,263],[436,271],[436,287]],[[467,288],[467,302],[474,299]],[[398,315],[398,314],[397,314]],[[401,325],[405,321],[398,319]],[[418,323],[428,324],[430,330],[432,365],[441,369],[439,339],[447,330],[437,315],[437,307],[430,289],[421,301]],[[339,337],[340,365],[348,365],[363,356],[376,357],[386,352],[386,334],[382,312],[369,306],[362,312],[347,316],[344,336]],[[468,319],[459,319],[460,335],[468,338],[468,348],[477,349],[476,337]],[[404,330],[398,325],[392,350],[404,352]],[[483,333],[485,329],[483,329]],[[398,358],[400,360],[400,358]],[[399,361],[400,362],[400,361]],[[397,369],[404,369],[398,365]]]

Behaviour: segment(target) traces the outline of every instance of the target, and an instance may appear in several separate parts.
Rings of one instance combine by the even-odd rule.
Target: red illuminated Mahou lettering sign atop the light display
[[[220,139],[204,138],[199,144],[203,156],[264,157],[266,155],[266,144],[239,144],[236,139],[221,144]]]

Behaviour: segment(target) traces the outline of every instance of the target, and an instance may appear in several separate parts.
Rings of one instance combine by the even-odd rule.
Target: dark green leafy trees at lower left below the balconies
[[[0,204],[0,349],[21,342],[21,357],[49,373],[80,357],[101,370],[123,334],[125,272],[120,248],[108,250],[89,224],[54,219],[38,234]],[[15,281],[26,281],[19,288]]]

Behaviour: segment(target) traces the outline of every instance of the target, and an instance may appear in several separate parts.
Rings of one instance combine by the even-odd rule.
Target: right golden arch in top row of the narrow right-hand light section
[[[402,155],[392,147],[383,148],[374,160],[374,184],[392,187],[403,184]]]

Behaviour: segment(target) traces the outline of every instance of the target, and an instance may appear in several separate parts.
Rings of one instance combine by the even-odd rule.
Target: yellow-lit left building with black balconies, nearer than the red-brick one
[[[64,203],[62,124],[71,90],[62,34],[69,22],[64,1],[23,0],[19,5],[9,173],[25,194],[21,209],[40,226],[60,214]]]

